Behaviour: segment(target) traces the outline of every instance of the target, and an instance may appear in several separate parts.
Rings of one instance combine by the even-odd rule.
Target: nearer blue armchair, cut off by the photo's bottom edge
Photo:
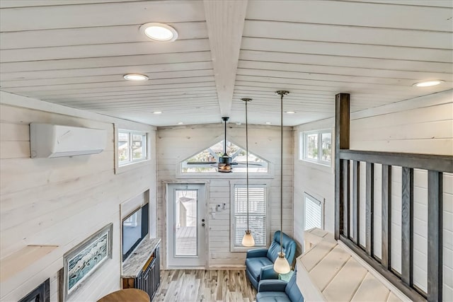
[[[294,272],[288,283],[283,280],[261,280],[256,302],[304,302]]]

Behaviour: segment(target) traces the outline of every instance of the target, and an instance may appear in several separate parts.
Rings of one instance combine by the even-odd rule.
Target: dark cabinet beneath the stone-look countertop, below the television
[[[122,280],[123,289],[142,289],[142,291],[147,292],[151,300],[154,298],[160,284],[159,247],[154,250],[144,267],[140,270],[139,274],[137,274],[137,277],[134,279],[124,278]]]

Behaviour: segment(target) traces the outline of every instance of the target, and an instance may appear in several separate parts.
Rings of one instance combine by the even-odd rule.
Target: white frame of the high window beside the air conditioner
[[[129,161],[120,161],[119,155],[120,152],[118,151],[118,141],[120,133],[126,133],[128,136],[128,154],[129,154]],[[133,149],[132,149],[132,136],[133,135],[140,135],[142,136],[142,148],[144,148],[144,157],[133,159]],[[130,130],[121,127],[115,127],[115,174],[125,172],[130,170],[131,168],[137,167],[139,163],[149,162],[151,160],[151,142],[149,132],[147,131],[139,131],[139,130]]]

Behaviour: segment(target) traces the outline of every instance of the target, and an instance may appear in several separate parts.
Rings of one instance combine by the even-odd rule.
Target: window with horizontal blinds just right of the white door
[[[267,245],[267,186],[248,186],[248,228],[250,229],[255,246],[265,248]],[[247,229],[247,187],[234,185],[234,201],[231,203],[233,214],[233,230],[231,231],[231,248],[241,250],[242,238]]]

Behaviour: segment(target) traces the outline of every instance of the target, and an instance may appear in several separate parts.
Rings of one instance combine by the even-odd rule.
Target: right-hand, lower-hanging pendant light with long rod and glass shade
[[[288,93],[275,91],[275,94],[280,95],[280,252],[274,262],[274,270],[278,274],[287,274],[291,270],[283,252],[283,95]]]

